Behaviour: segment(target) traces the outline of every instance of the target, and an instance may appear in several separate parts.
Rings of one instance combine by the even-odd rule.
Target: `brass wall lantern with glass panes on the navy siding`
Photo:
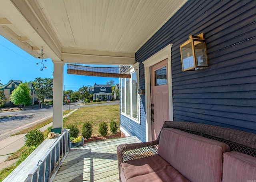
[[[189,36],[180,46],[182,71],[199,70],[208,67],[208,57],[204,33]]]

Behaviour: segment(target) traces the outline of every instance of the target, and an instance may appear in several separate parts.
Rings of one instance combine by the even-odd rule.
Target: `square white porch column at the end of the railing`
[[[52,128],[63,128],[63,67],[64,62],[52,61],[53,74],[53,118]]]

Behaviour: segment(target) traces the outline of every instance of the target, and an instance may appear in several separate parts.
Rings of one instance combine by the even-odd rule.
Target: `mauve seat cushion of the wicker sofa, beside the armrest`
[[[188,182],[158,154],[122,162],[120,176],[122,182]]]

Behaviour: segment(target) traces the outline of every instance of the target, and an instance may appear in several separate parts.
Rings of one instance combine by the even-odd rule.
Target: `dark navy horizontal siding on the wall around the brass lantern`
[[[201,32],[209,68],[182,72],[179,46]],[[256,1],[190,0],[136,52],[136,61],[168,44],[174,120],[256,133]]]

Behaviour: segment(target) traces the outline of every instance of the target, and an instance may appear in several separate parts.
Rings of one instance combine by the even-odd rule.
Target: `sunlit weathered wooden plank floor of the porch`
[[[118,182],[116,147],[141,142],[135,136],[90,142],[72,148],[54,177],[54,182]]]

